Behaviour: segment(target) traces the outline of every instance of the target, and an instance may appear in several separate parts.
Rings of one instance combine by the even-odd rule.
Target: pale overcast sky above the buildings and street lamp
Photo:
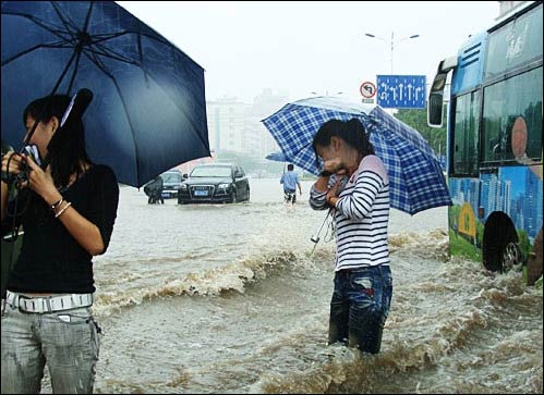
[[[498,1],[119,1],[205,69],[206,98],[251,102],[264,88],[290,100],[333,95],[390,72],[433,78],[498,15]],[[368,38],[371,33],[383,40]],[[418,38],[403,39],[411,35]]]

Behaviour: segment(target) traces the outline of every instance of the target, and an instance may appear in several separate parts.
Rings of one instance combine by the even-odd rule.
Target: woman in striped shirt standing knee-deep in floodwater
[[[313,148],[323,170],[310,205],[333,210],[336,229],[328,344],[377,354],[392,296],[387,171],[358,119],[325,122]]]

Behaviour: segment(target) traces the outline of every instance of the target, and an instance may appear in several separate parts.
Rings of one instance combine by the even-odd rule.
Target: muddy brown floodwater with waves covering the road
[[[391,210],[394,296],[382,353],[327,346],[334,242],[326,212],[250,202],[147,205],[121,188],[95,259],[104,330],[96,393],[542,393],[542,291],[447,248],[447,208]]]

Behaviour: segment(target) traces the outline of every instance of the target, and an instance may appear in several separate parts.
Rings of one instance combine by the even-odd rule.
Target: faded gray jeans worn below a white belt
[[[2,300],[2,394],[38,394],[47,362],[55,394],[92,394],[99,328],[90,307],[34,313]]]

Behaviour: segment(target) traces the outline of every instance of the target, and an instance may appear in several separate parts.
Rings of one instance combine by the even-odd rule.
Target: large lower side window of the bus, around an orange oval
[[[486,87],[483,106],[483,162],[518,163],[512,132],[520,124],[527,125],[523,157],[542,159],[542,66]]]

